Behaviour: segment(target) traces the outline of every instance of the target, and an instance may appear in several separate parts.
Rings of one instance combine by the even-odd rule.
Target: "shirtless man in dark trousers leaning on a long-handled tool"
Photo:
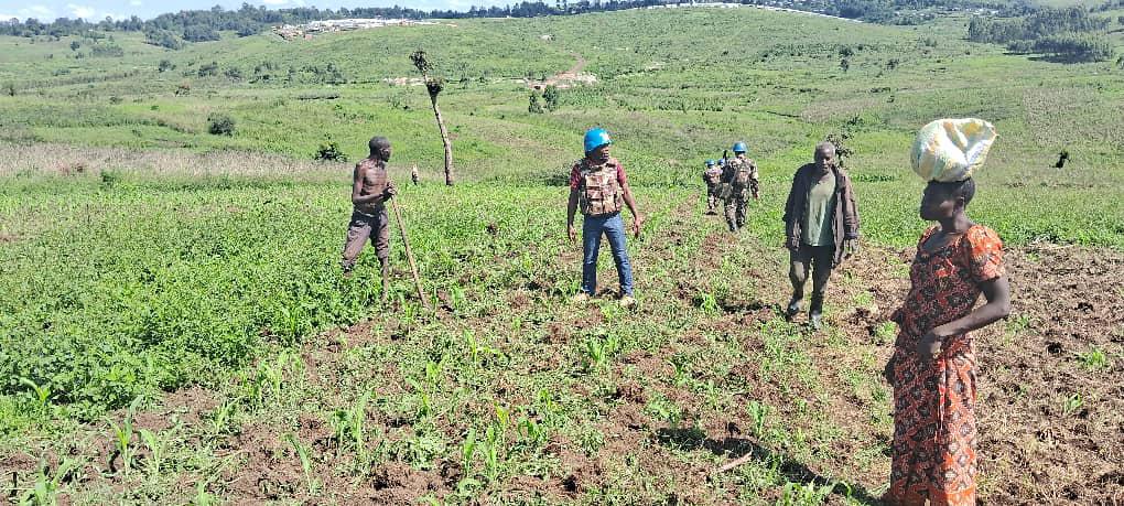
[[[350,277],[355,268],[355,259],[373,236],[374,254],[382,268],[382,299],[386,300],[390,283],[390,219],[387,217],[387,200],[393,198],[398,190],[387,177],[390,141],[387,137],[372,137],[368,147],[371,148],[371,155],[360,160],[352,174],[353,209],[341,264],[344,275]]]

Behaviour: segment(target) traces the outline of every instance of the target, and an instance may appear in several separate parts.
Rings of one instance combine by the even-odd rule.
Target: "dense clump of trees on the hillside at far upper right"
[[[1032,9],[1009,18],[973,17],[968,38],[1005,44],[1014,53],[1039,53],[1072,62],[1099,62],[1113,57],[1105,30],[1111,20],[1089,16],[1085,7]]]

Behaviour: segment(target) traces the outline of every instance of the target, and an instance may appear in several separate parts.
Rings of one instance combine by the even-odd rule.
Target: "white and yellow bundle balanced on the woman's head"
[[[982,119],[937,119],[917,133],[909,162],[925,181],[963,181],[987,160],[995,137]]]

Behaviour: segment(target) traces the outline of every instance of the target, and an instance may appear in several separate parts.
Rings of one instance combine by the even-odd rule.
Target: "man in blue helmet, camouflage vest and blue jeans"
[[[581,291],[574,296],[577,301],[587,301],[597,292],[597,253],[601,247],[601,234],[609,240],[613,250],[613,261],[617,265],[617,278],[620,281],[620,305],[633,307],[632,263],[628,260],[628,249],[625,242],[624,222],[620,219],[620,208],[628,206],[633,215],[632,232],[640,236],[644,218],[636,210],[628,178],[620,162],[609,156],[613,139],[604,128],[592,128],[586,133],[586,156],[574,162],[570,170],[570,201],[566,206],[566,234],[570,241],[577,241],[573,218],[581,209],[581,240],[583,261],[581,266]]]

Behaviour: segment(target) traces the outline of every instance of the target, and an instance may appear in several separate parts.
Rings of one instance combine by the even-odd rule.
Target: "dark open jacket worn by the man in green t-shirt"
[[[785,205],[785,245],[800,247],[801,227],[808,211],[808,191],[816,180],[816,164],[809,163],[796,170],[792,190]],[[843,169],[835,169],[835,213],[832,219],[832,237],[835,241],[835,265],[843,262],[843,241],[859,238],[859,208],[854,204],[854,188],[851,177]]]

